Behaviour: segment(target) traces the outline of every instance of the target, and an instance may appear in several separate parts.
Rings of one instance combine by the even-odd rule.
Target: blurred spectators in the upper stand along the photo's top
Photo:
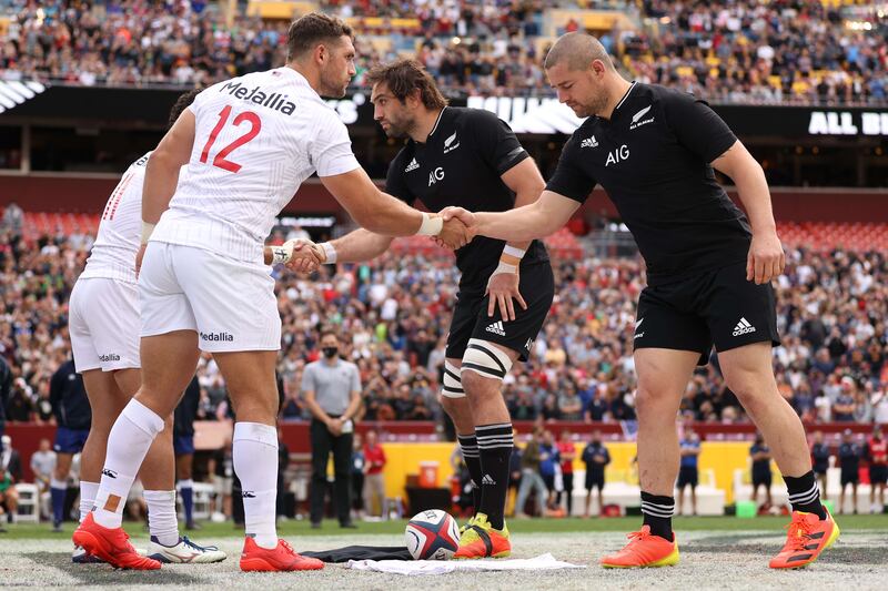
[[[559,4],[568,3],[326,0],[320,8],[355,19],[359,86],[373,63],[415,51],[448,93],[496,94],[547,90],[543,14]],[[640,81],[735,102],[881,102],[888,93],[885,23],[875,8],[850,21],[835,3],[799,0],[586,4],[616,6],[639,23],[596,32]],[[229,24],[206,0],[3,6],[10,16],[0,43],[6,79],[205,85],[285,59],[285,20],[240,9]],[[572,18],[557,33],[579,28]]]

